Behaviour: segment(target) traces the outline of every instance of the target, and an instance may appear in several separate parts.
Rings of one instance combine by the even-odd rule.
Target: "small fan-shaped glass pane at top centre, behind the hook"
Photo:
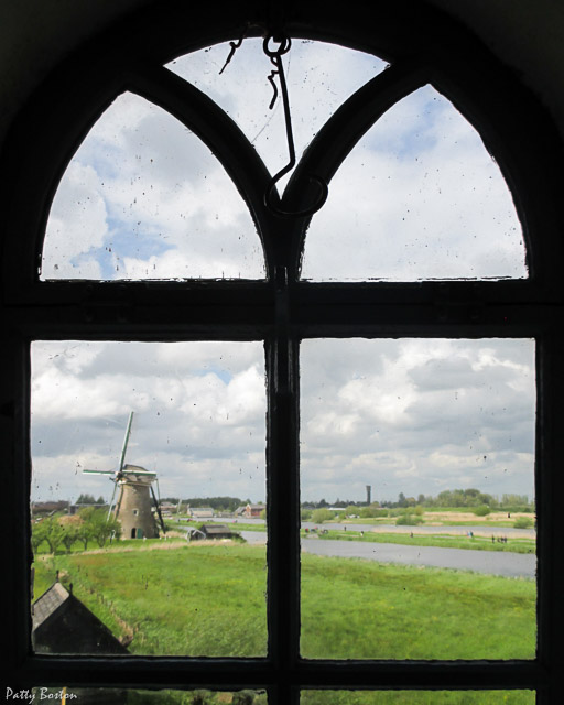
[[[274,67],[262,43],[262,39],[245,39],[227,66],[228,42],[181,56],[166,67],[213,98],[274,174],[285,166],[289,155],[280,95],[269,108],[274,94],[268,77]],[[269,44],[271,51],[276,47]],[[297,159],[335,110],[387,66],[369,54],[300,39],[292,40],[282,63]]]

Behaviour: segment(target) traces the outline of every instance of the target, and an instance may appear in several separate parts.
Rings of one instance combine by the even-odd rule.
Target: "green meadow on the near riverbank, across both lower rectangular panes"
[[[267,653],[264,549],[181,545],[37,561],[138,654]],[[39,592],[39,590],[37,590]],[[302,556],[302,653],[337,659],[531,659],[535,583]]]

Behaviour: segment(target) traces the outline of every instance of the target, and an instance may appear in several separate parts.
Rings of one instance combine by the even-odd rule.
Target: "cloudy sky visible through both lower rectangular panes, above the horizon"
[[[108,496],[127,460],[161,495],[264,500],[259,343],[36,341],[33,496]],[[477,487],[533,496],[531,340],[305,340],[302,497],[364,500]]]

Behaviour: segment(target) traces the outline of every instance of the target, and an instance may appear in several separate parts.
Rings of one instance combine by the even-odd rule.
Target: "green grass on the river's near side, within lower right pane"
[[[327,659],[532,659],[532,581],[306,555],[302,653]]]

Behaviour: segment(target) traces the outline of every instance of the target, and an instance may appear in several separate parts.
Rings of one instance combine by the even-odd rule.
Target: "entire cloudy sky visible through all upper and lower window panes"
[[[260,40],[167,68],[239,124],[273,174],[288,160],[282,104]],[[296,153],[377,57],[294,40],[284,67]],[[414,281],[527,276],[510,193],[476,131],[425,86],[359,141],[312,219],[302,276]],[[42,279],[263,279],[247,207],[209,150],[160,108],[119,96],[63,175]],[[129,412],[128,460],[162,496],[264,499],[259,343],[36,341],[33,496],[109,497]],[[530,340],[312,340],[302,345],[302,497],[395,499],[478,487],[532,496]]]

